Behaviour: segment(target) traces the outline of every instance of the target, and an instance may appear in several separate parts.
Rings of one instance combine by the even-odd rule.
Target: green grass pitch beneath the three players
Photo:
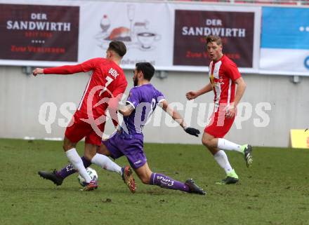
[[[202,145],[145,144],[145,152],[152,171],[192,177],[207,195],[147,186],[136,176],[132,194],[96,165],[98,190],[79,191],[77,175],[56,187],[37,171],[67,163],[62,142],[0,139],[0,224],[309,224],[309,150],[256,147],[250,169],[227,151],[240,179],[227,186],[215,184],[225,174]]]

